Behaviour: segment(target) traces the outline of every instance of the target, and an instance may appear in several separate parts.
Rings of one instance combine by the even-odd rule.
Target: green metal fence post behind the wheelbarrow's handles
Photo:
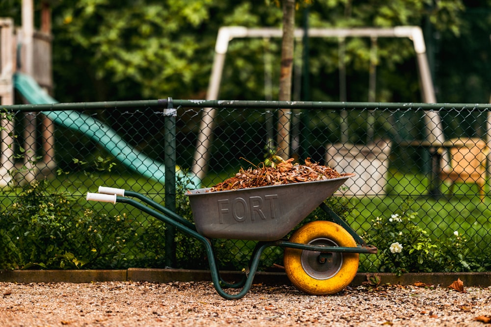
[[[164,166],[165,166],[165,207],[176,210],[176,116],[172,98],[167,99],[164,109]],[[165,226],[165,266],[174,267],[176,263],[175,234],[173,226]]]

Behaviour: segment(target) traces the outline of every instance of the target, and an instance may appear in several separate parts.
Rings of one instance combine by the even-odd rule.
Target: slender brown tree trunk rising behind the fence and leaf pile
[[[295,0],[283,0],[283,40],[281,43],[281,70],[279,77],[279,101],[291,101],[292,66],[295,32]],[[278,110],[278,153],[288,159],[290,152],[289,109]]]

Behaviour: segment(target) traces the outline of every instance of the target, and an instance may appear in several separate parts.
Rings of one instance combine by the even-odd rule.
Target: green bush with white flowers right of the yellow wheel
[[[468,271],[466,239],[455,231],[449,237],[431,237],[415,224],[417,212],[409,209],[409,201],[401,213],[377,217],[363,238],[378,248],[369,271],[396,273]]]

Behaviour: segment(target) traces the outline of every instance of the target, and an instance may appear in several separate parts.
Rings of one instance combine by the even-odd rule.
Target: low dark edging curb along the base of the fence
[[[227,281],[239,280],[242,272],[220,272]],[[377,275],[382,284],[412,285],[422,282],[428,285],[448,286],[460,278],[464,286],[491,286],[491,272],[486,273],[410,273],[396,276],[389,273],[365,274],[358,273],[351,286],[362,285],[367,275]],[[129,268],[128,270],[3,270],[0,271],[0,282],[15,283],[48,283],[70,282],[90,283],[104,281],[148,281],[168,283],[174,281],[210,281],[211,274],[207,270],[186,269],[145,269]],[[257,272],[254,283],[265,285],[288,285],[290,281],[285,273]]]

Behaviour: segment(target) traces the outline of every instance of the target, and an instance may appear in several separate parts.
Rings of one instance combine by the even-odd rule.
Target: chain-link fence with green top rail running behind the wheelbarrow
[[[360,271],[409,271],[402,255],[419,252],[419,271],[491,267],[485,104],[168,99],[5,108],[3,268],[207,268],[198,241],[85,194],[101,185],[132,190],[192,221],[186,189],[262,165],[278,147],[300,163],[356,174],[327,204],[378,243],[379,254],[360,255]],[[315,211],[307,220],[322,218]],[[255,242],[213,245],[221,269],[242,269]],[[281,249],[268,249],[261,269],[281,260]]]

